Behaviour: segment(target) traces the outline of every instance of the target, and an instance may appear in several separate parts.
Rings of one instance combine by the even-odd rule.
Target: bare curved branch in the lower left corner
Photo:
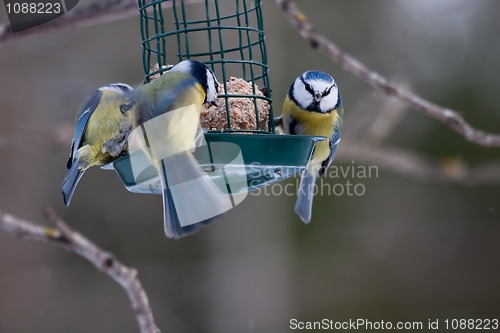
[[[18,238],[53,244],[87,259],[126,291],[141,333],[158,333],[159,329],[153,319],[148,297],[137,278],[137,270],[125,266],[113,254],[101,249],[82,234],[71,230],[53,209],[45,209],[44,214],[55,224],[54,228],[39,226],[0,211],[0,230],[14,234]]]

